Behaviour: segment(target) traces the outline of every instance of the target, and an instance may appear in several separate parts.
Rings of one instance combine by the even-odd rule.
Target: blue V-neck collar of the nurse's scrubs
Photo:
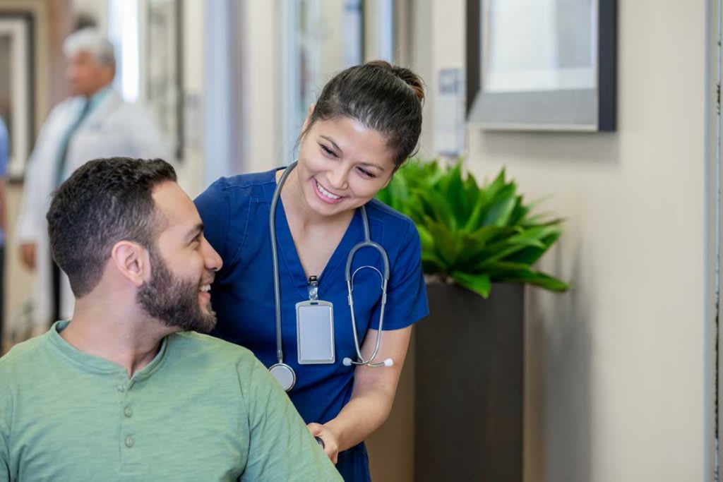
[[[276,172],[277,170],[271,171],[271,184],[268,184],[270,189],[265,189],[266,202],[269,207],[271,206],[271,199],[273,198],[273,192],[276,189]],[[346,258],[352,246],[356,244],[355,240],[358,240],[362,233],[361,225],[361,213],[359,210],[354,211],[354,216],[351,218],[344,236],[341,241],[334,249],[333,254],[326,263],[324,270],[317,275],[320,288],[320,298],[323,296],[323,283],[324,280],[328,280],[332,277],[333,273],[339,269],[339,266],[346,265]],[[299,257],[299,251],[296,250],[296,244],[294,243],[294,237],[291,236],[291,228],[289,228],[288,220],[286,220],[286,211],[283,209],[283,201],[281,196],[278,198],[278,207],[276,208],[276,245],[280,253],[280,258],[286,263],[286,270],[288,275],[291,277],[291,282],[296,286],[299,294],[302,298],[307,298],[309,293],[307,292],[307,286],[309,280],[304,267],[301,265],[301,258]]]

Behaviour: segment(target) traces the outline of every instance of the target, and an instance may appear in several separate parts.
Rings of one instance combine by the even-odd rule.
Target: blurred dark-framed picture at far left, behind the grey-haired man
[[[0,12],[0,117],[9,134],[7,176],[20,181],[35,139],[35,18]]]

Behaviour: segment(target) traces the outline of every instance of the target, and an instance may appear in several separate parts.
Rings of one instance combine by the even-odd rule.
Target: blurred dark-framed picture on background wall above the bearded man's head
[[[146,0],[145,101],[183,159],[181,0]]]

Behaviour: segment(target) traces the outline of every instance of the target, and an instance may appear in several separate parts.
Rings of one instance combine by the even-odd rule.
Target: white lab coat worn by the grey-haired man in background
[[[69,98],[53,108],[28,161],[20,215],[17,219],[19,243],[35,243],[35,287],[33,324],[47,327],[52,317],[51,254],[48,246],[46,213],[55,189],[59,145],[72,122],[80,115],[82,98]],[[72,173],[88,160],[124,156],[161,158],[173,162],[171,146],[165,142],[150,115],[124,102],[114,92],[78,126],[70,139],[66,172]],[[74,297],[68,278],[61,274],[61,318],[72,317]]]

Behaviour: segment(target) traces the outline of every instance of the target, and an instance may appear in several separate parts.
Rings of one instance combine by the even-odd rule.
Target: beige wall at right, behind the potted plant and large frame
[[[432,73],[458,3],[432,0]],[[617,132],[468,132],[471,171],[567,218],[542,268],[572,291],[528,293],[526,481],[704,480],[705,7],[619,0]]]

